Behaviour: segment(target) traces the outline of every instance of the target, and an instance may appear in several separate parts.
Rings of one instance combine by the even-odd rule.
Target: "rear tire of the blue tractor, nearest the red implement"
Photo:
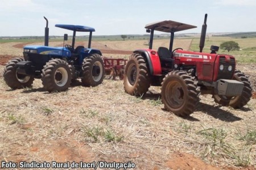
[[[100,54],[92,54],[82,62],[82,83],[84,86],[97,86],[101,84],[105,75],[104,62]]]

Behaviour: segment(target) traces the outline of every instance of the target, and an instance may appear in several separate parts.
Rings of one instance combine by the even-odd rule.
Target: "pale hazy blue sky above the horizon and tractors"
[[[55,24],[94,27],[93,35],[145,34],[144,26],[160,20],[196,25],[180,33],[200,32],[208,14],[207,32],[256,31],[255,0],[0,0],[0,36],[72,34]],[[160,32],[159,32],[160,33]],[[84,35],[80,33],[79,35]]]

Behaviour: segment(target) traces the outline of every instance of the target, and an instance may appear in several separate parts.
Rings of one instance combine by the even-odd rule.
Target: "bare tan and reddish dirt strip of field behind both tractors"
[[[174,48],[181,47],[189,49],[191,39],[180,39],[174,42]],[[148,48],[147,40],[137,41],[93,41],[92,48],[100,49],[102,54],[131,54],[135,49]],[[65,42],[71,44],[71,41]],[[43,42],[9,42],[0,44],[0,54],[7,56],[23,56],[23,47],[26,45],[43,45]],[[86,42],[76,42],[76,46],[88,46]],[[49,46],[63,46],[63,42],[49,42]],[[158,49],[159,46],[169,46],[168,40],[155,40],[153,49]]]

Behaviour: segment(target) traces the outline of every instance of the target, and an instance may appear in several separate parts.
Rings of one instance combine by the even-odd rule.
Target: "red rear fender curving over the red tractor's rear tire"
[[[141,54],[142,57],[144,57],[148,63],[148,69],[150,71],[151,75],[161,75],[161,64],[158,57],[158,53],[156,53],[155,50],[151,49],[138,49],[135,50],[133,53]]]

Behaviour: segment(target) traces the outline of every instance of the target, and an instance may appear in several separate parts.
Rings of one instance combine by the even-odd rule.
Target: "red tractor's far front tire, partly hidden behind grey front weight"
[[[224,106],[231,106],[234,109],[242,108],[244,105],[250,101],[251,97],[251,83],[249,82],[249,79],[245,76],[245,74],[241,73],[239,70],[235,70],[233,80],[240,81],[244,84],[243,91],[240,96],[220,96],[220,95],[213,95],[214,101],[218,104],[224,105]]]

